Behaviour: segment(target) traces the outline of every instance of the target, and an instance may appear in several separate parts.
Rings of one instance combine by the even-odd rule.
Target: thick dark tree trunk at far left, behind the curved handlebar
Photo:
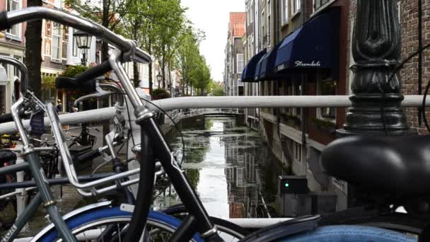
[[[28,6],[42,6],[42,0],[28,1]],[[42,97],[42,21],[30,21],[25,30],[25,65],[28,68],[28,86],[37,98]],[[31,40],[31,41],[30,41]]]

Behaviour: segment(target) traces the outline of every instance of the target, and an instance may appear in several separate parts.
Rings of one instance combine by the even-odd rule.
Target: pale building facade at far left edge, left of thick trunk
[[[27,0],[6,0],[0,1],[0,11],[12,11],[25,8]],[[0,32],[0,55],[13,57],[23,61],[25,57],[25,28],[26,24],[13,25],[11,29]],[[13,96],[18,97],[21,74],[11,65],[1,65],[0,72],[0,115],[11,113]]]

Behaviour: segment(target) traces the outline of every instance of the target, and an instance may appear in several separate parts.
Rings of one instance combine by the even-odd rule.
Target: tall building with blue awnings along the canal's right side
[[[349,2],[345,0],[260,0],[246,1],[247,45],[245,57],[250,59],[262,50],[262,58],[269,63],[274,56],[291,54],[294,46],[296,62],[279,65],[272,76],[245,84],[248,96],[327,96],[347,95],[349,87]],[[324,19],[329,19],[324,23]],[[322,41],[325,33],[318,33],[315,26],[322,26],[335,33],[330,67],[319,68],[319,62],[301,62],[300,58],[313,53],[296,42]],[[327,33],[328,35],[328,33]],[[295,42],[296,41],[296,42]],[[286,52],[286,51],[289,52]],[[291,54],[291,58],[292,54]],[[259,63],[260,64],[260,63]],[[272,63],[273,64],[273,63]],[[296,64],[294,66],[294,64]],[[269,64],[267,64],[269,65]],[[301,68],[305,67],[305,68]],[[260,72],[261,73],[261,72]],[[328,177],[319,166],[320,152],[332,142],[335,130],[345,122],[344,108],[261,108],[247,110],[247,123],[257,127],[267,139],[267,144],[294,175],[306,175],[308,188],[313,192],[330,192],[337,195],[337,208],[347,207],[347,184]],[[257,115],[259,114],[259,115]]]

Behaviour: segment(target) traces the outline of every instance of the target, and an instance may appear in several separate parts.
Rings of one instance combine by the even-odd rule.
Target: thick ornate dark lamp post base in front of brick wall
[[[356,1],[352,42],[355,62],[351,67],[355,73],[351,83],[353,95],[349,98],[352,105],[339,134],[384,135],[385,129],[390,135],[408,134],[398,74],[394,74],[387,85],[400,59],[397,1]],[[384,110],[382,117],[381,108]]]

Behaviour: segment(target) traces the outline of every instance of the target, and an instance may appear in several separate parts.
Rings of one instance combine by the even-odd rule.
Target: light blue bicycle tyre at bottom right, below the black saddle
[[[295,236],[275,239],[282,242],[325,242],[325,241],[378,241],[378,242],[412,242],[417,241],[407,234],[388,229],[380,229],[372,226],[335,225],[322,226],[314,231],[308,231]]]

